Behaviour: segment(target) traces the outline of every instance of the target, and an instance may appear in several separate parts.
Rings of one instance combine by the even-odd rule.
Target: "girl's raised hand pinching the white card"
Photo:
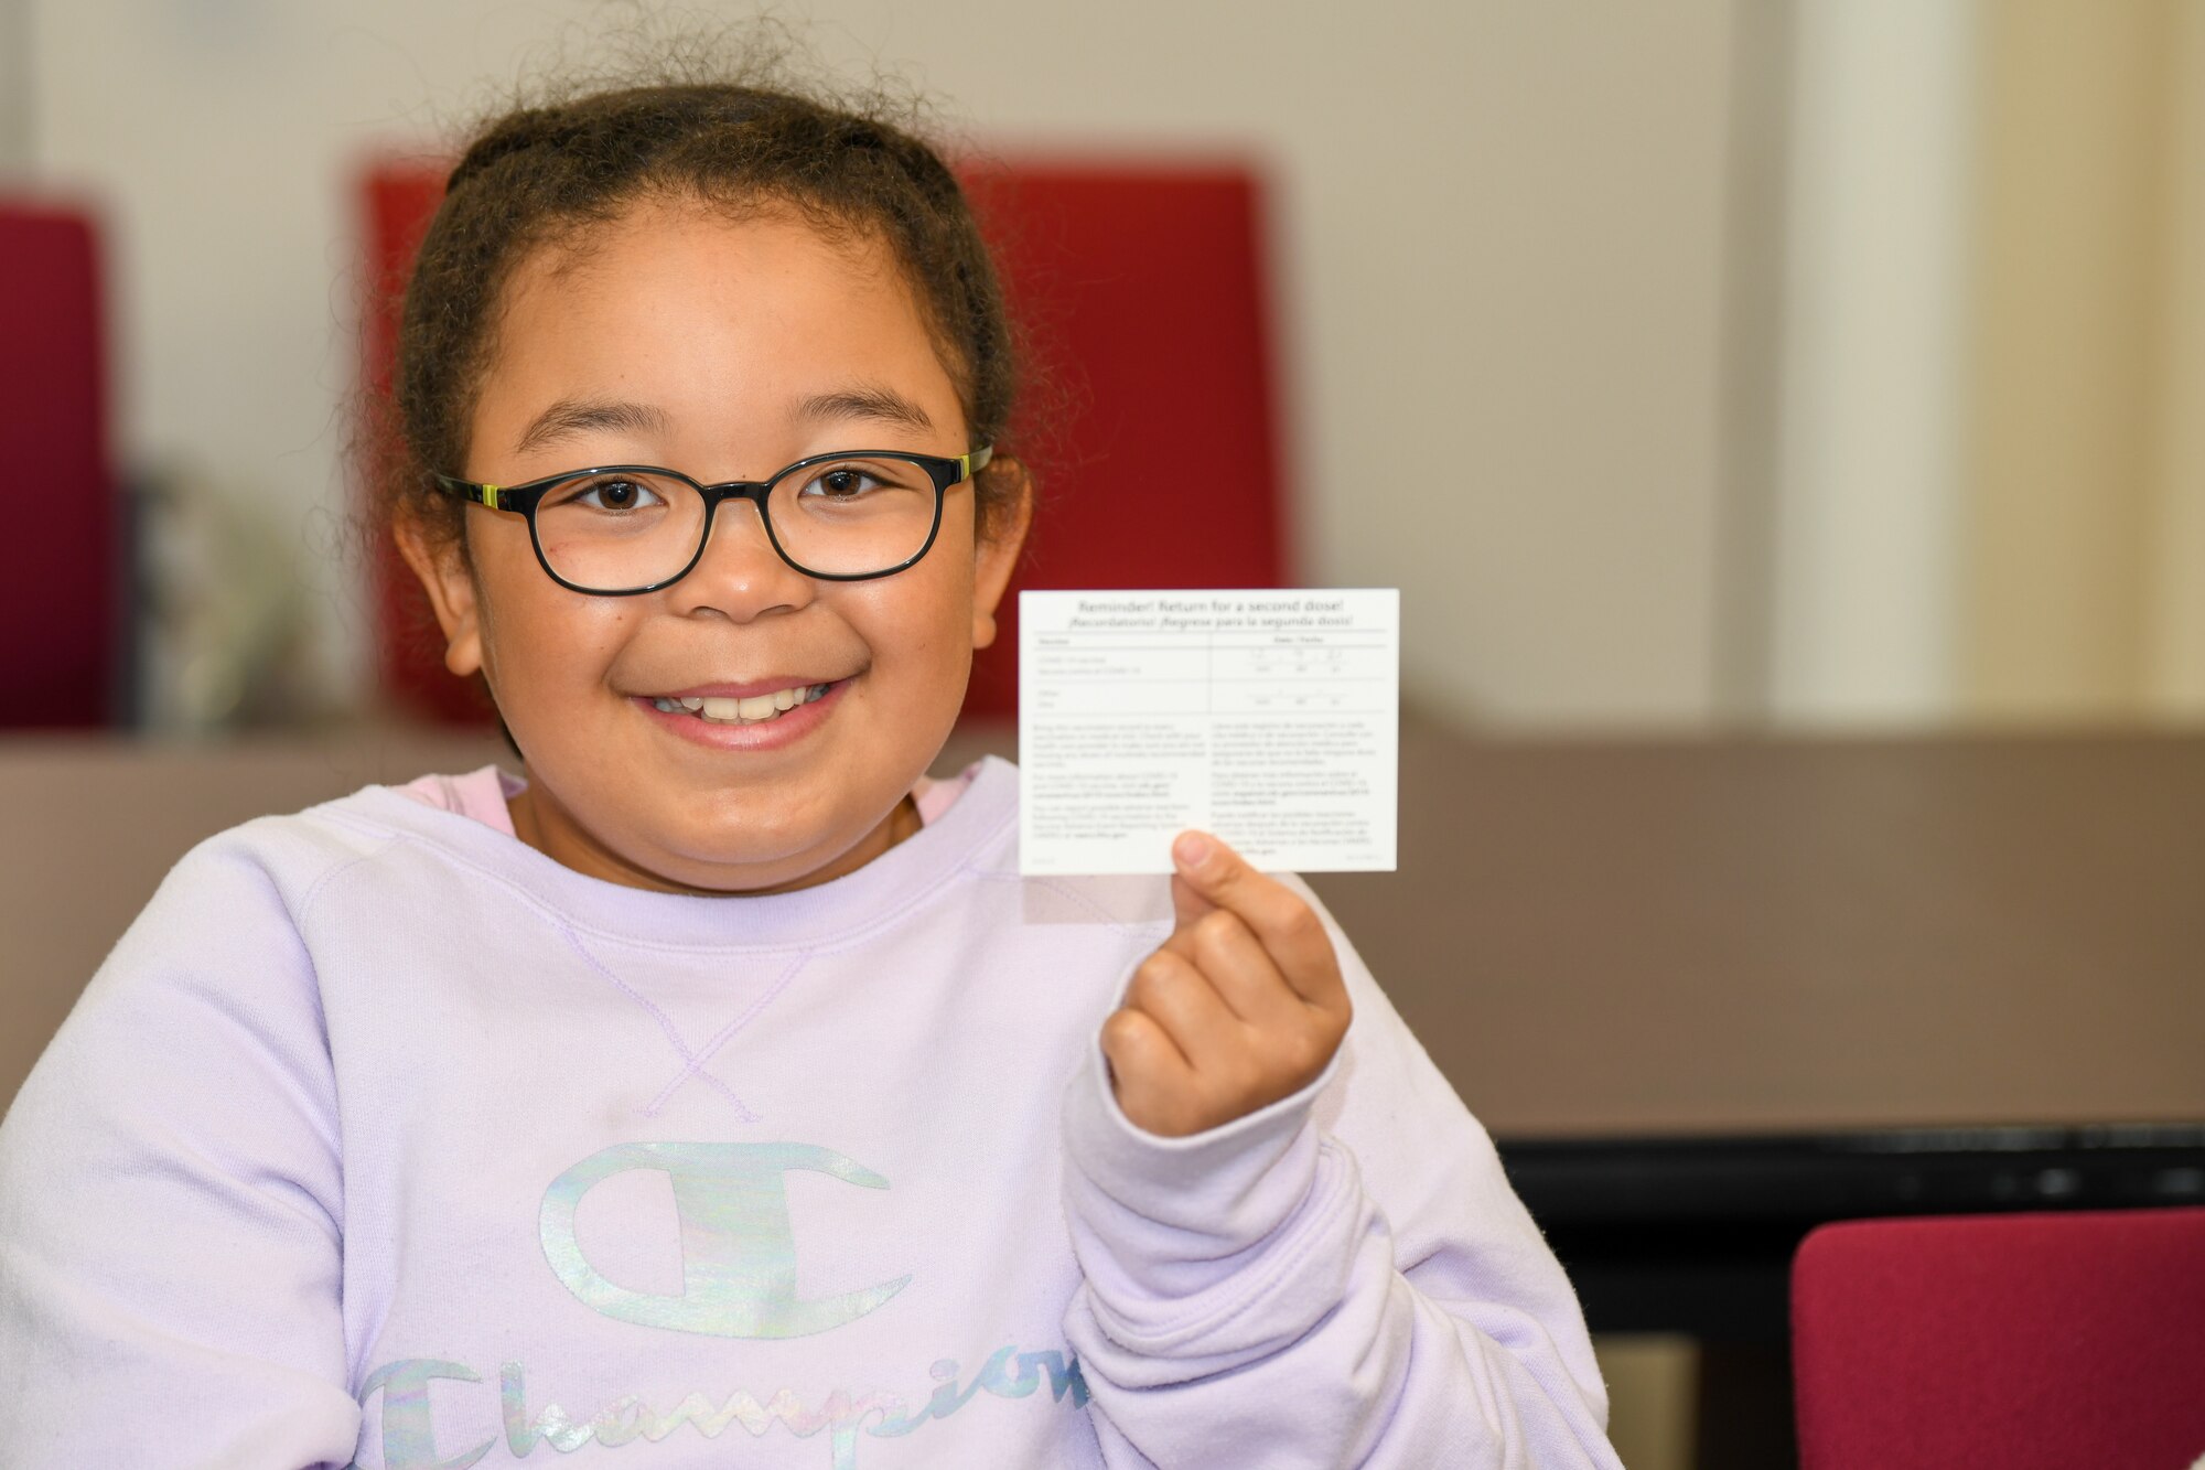
[[[1314,1082],[1352,1004],[1301,894],[1202,832],[1182,832],[1171,859],[1177,925],[1102,1022],[1102,1055],[1127,1119],[1184,1137]]]

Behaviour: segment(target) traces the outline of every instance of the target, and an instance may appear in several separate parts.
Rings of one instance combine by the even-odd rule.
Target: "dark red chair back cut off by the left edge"
[[[0,203],[0,728],[115,717],[123,554],[99,247],[82,214]]]

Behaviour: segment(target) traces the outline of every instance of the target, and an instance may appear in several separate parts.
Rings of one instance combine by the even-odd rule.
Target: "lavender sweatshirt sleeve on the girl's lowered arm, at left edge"
[[[346,1463],[337,1157],[311,962],[216,839],[0,1126],[0,1470]]]

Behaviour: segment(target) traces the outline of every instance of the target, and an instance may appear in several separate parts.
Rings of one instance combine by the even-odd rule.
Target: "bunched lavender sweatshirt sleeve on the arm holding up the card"
[[[1325,927],[1356,1015],[1294,1097],[1162,1139],[1118,1110],[1100,1046],[1072,1084],[1065,1210],[1085,1282],[1065,1331],[1105,1463],[1616,1470],[1561,1265]]]

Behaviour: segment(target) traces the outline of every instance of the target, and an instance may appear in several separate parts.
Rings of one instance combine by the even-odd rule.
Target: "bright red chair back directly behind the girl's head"
[[[1277,587],[1288,547],[1272,397],[1263,212],[1244,168],[1010,163],[968,170],[1028,338],[1032,393],[1001,448],[1041,486],[1023,587]],[[401,283],[441,172],[366,177],[370,278]],[[388,382],[395,318],[370,320]],[[681,468],[681,466],[675,466]],[[401,704],[481,717],[421,636],[395,556],[381,583],[381,678]],[[1017,587],[966,713],[1019,704]]]

